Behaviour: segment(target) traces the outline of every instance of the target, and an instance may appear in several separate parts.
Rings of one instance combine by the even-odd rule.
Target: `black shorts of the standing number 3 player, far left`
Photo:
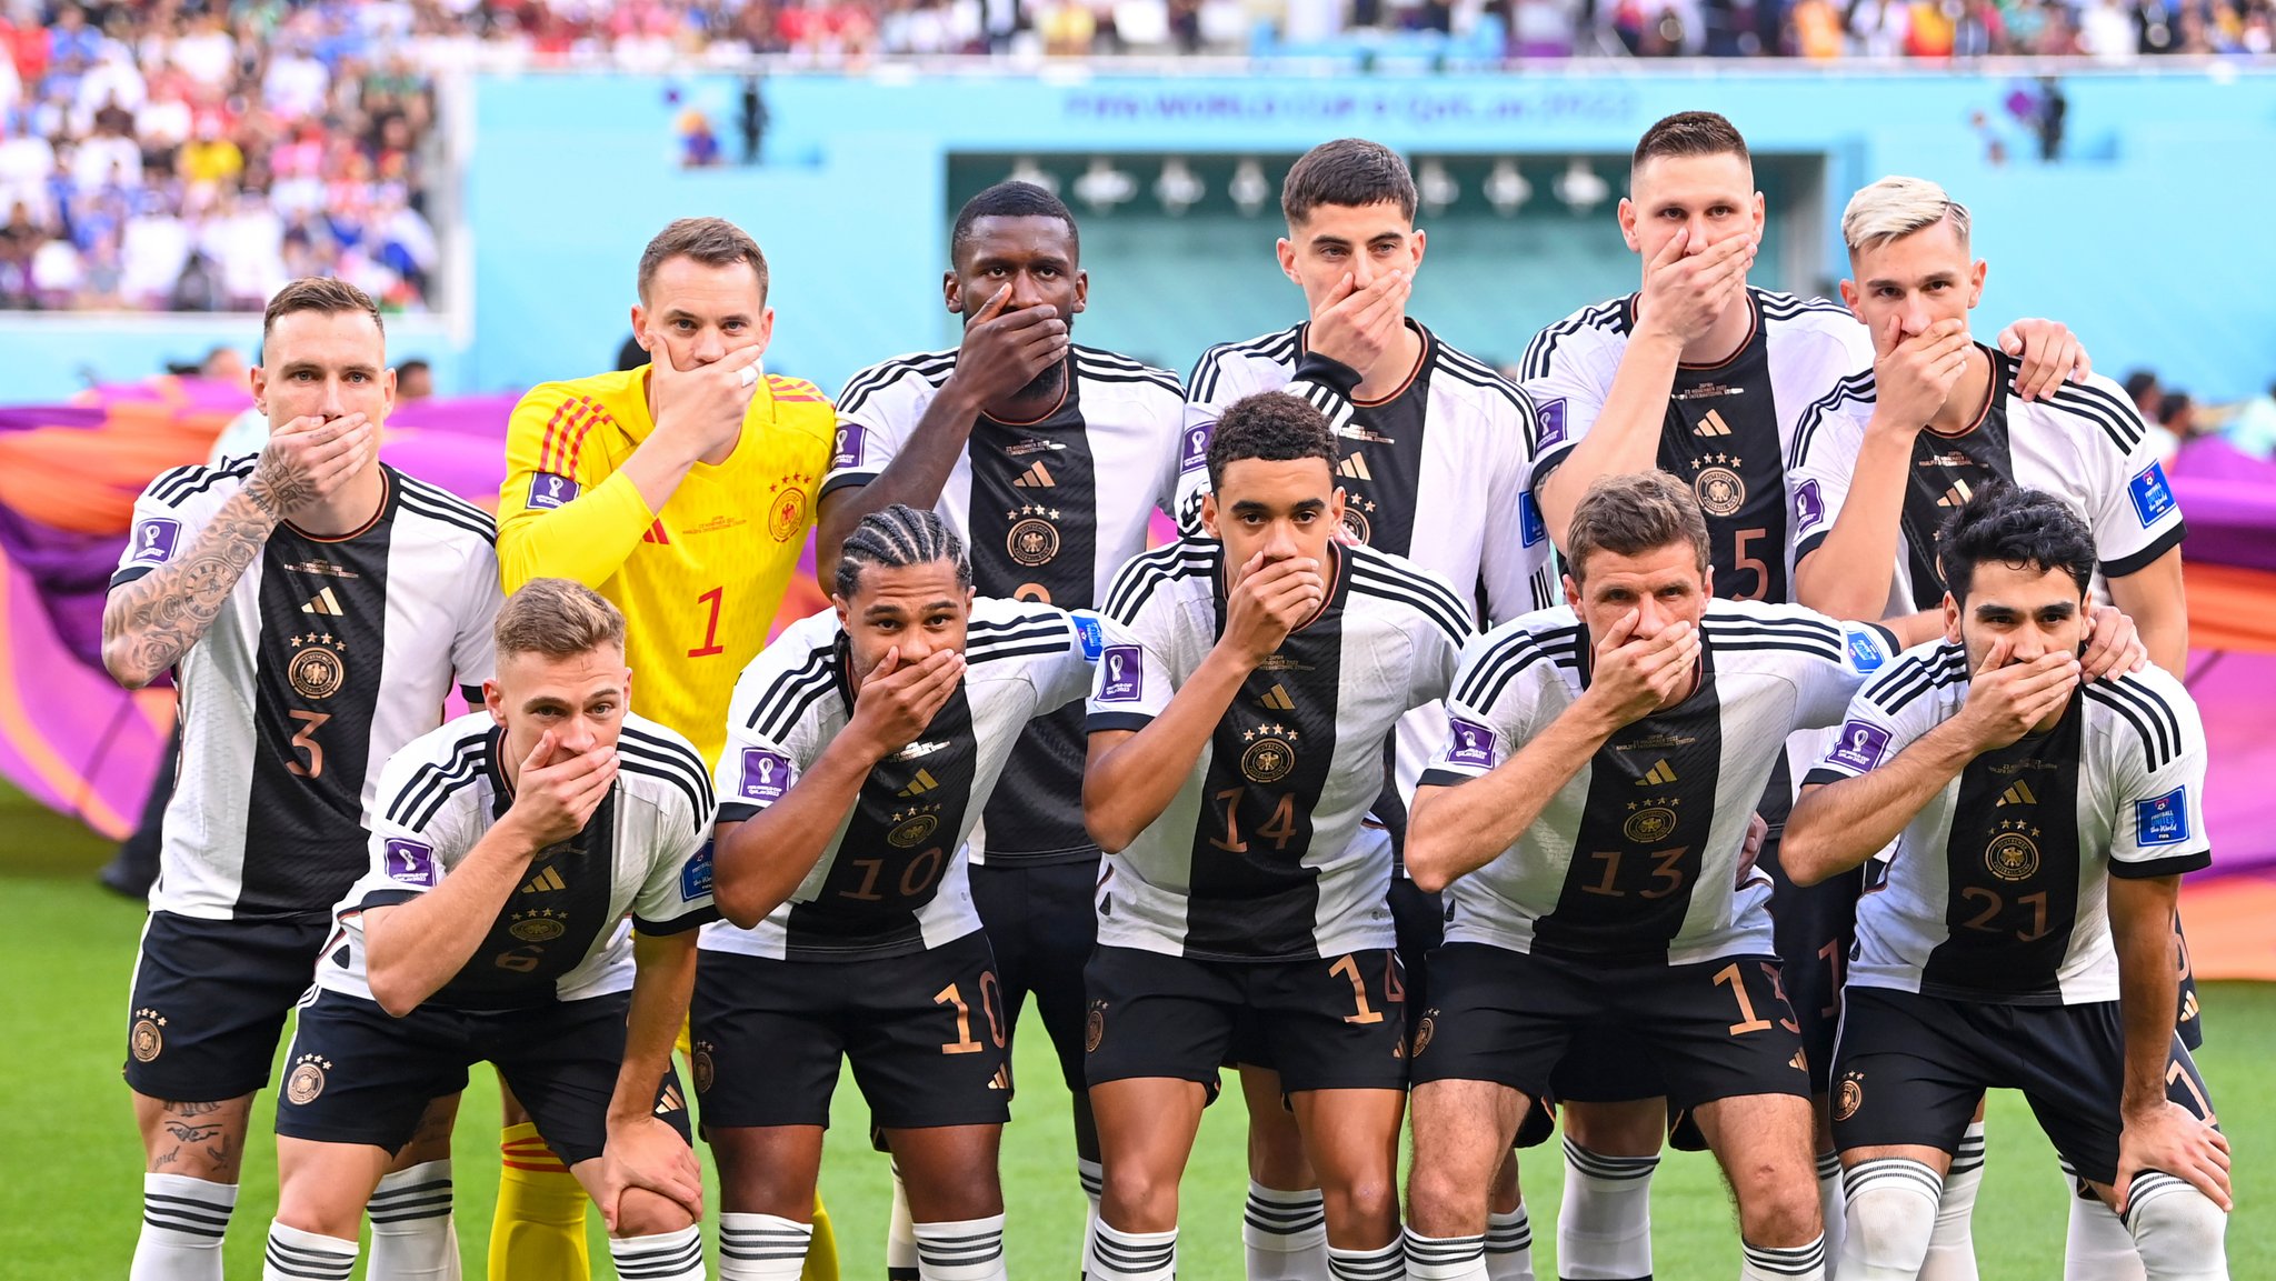
[[[127,1006],[127,1085],[214,1104],[269,1085],[284,1015],[316,978],[332,919],[205,922],[150,912]]]

